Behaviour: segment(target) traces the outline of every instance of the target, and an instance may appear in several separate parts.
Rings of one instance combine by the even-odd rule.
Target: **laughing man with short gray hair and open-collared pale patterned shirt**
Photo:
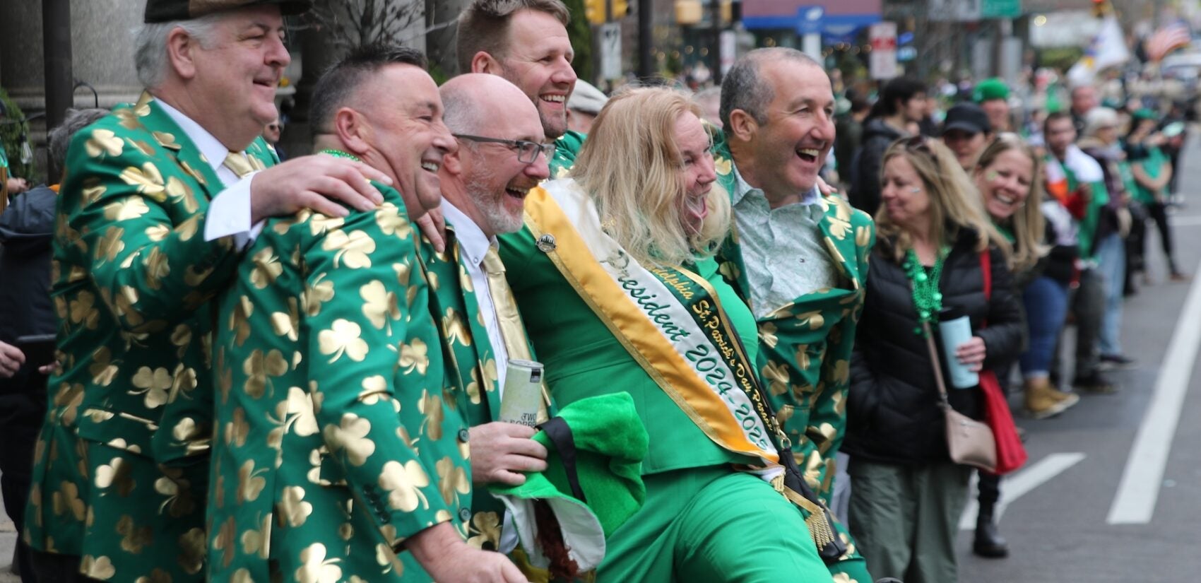
[[[713,156],[737,236],[722,245],[718,260],[758,321],[755,365],[812,490],[809,501],[820,506],[829,501],[846,428],[874,226],[818,189],[833,145],[835,100],[817,61],[790,48],[752,50],[725,75],[721,95],[723,129]],[[849,551],[819,546],[830,572],[838,581],[871,582],[849,534],[836,527]]]

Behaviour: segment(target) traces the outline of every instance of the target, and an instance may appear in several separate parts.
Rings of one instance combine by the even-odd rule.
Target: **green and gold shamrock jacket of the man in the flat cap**
[[[252,165],[276,161],[261,139]],[[52,297],[61,368],[23,536],[104,581],[203,579],[209,301],[238,254],[204,240],[220,178],[149,94],[67,153]]]

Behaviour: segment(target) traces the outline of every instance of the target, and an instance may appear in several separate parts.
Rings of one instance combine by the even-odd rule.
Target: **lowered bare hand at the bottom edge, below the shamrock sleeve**
[[[405,547],[434,581],[528,583],[508,557],[467,545],[450,523],[422,530],[405,541]]]

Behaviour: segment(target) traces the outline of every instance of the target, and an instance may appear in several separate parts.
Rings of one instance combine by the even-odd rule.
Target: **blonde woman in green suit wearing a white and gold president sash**
[[[555,403],[628,392],[650,436],[645,504],[605,533],[598,581],[830,581],[772,487],[777,427],[754,317],[712,257],[730,203],[699,115],[670,89],[611,97],[569,178],[502,238],[509,285]]]

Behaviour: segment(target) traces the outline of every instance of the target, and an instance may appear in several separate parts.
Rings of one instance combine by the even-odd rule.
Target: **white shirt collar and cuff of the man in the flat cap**
[[[233,236],[238,249],[245,249],[263,230],[262,221],[257,225],[250,224],[250,180],[257,172],[239,179],[238,174],[225,167],[225,159],[229,155],[229,149],[221,141],[201,127],[201,124],[197,124],[192,118],[167,105],[166,101],[156,101],[162,111],[171,115],[175,125],[184,130],[187,138],[196,144],[225,186],[209,201],[209,212],[204,218],[204,240]]]

